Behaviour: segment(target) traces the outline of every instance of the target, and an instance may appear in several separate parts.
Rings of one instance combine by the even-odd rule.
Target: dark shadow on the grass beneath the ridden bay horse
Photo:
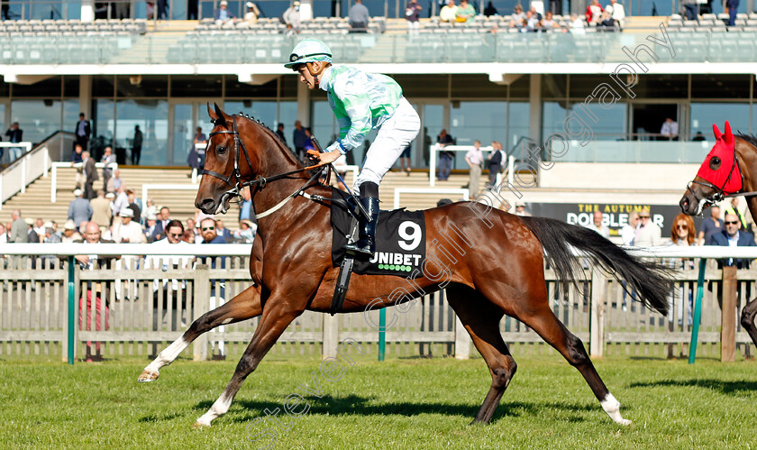
[[[375,399],[360,397],[357,395],[337,396],[324,395],[322,398],[306,397],[310,405],[309,415],[358,415],[358,416],[418,416],[421,414],[442,414],[445,416],[462,416],[470,418],[476,417],[479,412],[479,405],[461,404],[461,403],[412,403],[412,402],[388,402],[375,404]],[[374,404],[369,404],[373,402]],[[283,403],[283,399],[282,399]],[[232,420],[235,422],[249,422],[255,418],[266,416],[265,410],[283,413],[282,403],[258,400],[241,400],[234,402],[237,408],[247,411],[242,416],[237,416]],[[200,401],[194,409],[209,409],[213,405],[212,401]],[[232,407],[234,409],[234,406]],[[593,411],[597,407],[589,404],[570,403],[564,401],[513,401],[502,402],[497,408],[492,421],[505,417],[520,416],[538,416],[548,409],[562,409],[566,412]]]

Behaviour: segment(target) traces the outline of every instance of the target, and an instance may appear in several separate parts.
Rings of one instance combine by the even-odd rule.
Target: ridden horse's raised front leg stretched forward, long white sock
[[[192,344],[199,335],[206,333],[216,326],[233,324],[248,318],[262,314],[260,306],[260,286],[253,285],[244,289],[231,300],[212,311],[206,312],[197,318],[187,328],[184,335],[166,347],[158,356],[144,368],[140,374],[139,382],[155,381],[160,376],[160,369],[173,363],[184,349]]]

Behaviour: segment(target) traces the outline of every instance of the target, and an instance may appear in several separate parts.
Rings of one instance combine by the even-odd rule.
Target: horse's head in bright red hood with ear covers
[[[697,176],[689,182],[679,202],[680,210],[689,216],[702,214],[705,208],[743,188],[742,170],[739,167],[740,154],[743,152],[739,152],[739,148],[748,143],[734,137],[728,122],[725,122],[725,133],[720,133],[716,124],[712,128],[715,145],[699,167]]]

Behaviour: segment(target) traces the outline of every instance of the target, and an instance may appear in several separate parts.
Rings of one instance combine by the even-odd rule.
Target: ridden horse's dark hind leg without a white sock
[[[480,301],[476,301],[476,297]],[[491,374],[491,388],[471,423],[486,424],[494,415],[499,399],[517,369],[517,364],[499,333],[499,321],[504,313],[469,288],[450,287],[447,289],[447,298],[462,325],[468,330],[473,344],[487,362]]]

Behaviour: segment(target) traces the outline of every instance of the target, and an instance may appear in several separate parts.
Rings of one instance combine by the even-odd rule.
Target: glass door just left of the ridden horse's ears
[[[169,139],[169,166],[189,166],[189,152],[194,145],[197,127],[200,127],[205,138],[213,129],[207,117],[207,103],[211,99],[181,99],[171,100],[170,120],[171,133]]]

